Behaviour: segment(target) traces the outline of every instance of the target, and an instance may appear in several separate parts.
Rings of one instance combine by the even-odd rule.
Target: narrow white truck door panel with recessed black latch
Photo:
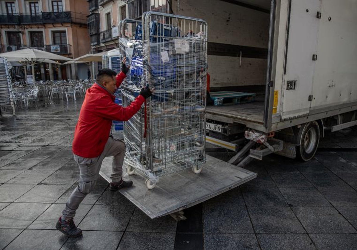
[[[290,0],[289,3],[282,119],[310,111],[321,11],[320,0]]]

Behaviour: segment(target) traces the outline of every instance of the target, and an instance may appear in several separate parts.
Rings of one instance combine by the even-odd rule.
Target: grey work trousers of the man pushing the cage
[[[109,137],[103,152],[98,157],[83,158],[74,154],[74,160],[78,163],[80,171],[79,184],[67,200],[66,208],[62,211],[62,219],[69,220],[75,216],[79,204],[94,188],[102,161],[107,156],[113,156],[110,178],[112,182],[119,182],[123,174],[125,156],[125,144],[121,140]]]

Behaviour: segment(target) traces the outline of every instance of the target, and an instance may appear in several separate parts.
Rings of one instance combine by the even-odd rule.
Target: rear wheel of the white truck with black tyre
[[[303,161],[312,159],[315,155],[318,142],[320,141],[320,129],[316,121],[308,122],[301,127],[298,142],[300,146],[296,147],[296,155]]]

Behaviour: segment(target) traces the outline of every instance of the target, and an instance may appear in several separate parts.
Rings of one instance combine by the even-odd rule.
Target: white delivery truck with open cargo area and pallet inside
[[[256,93],[255,102],[207,106],[206,140],[238,151],[231,163],[270,152],[307,161],[324,130],[357,124],[356,1],[172,3],[208,23],[211,94]],[[241,149],[244,132],[251,141]]]

